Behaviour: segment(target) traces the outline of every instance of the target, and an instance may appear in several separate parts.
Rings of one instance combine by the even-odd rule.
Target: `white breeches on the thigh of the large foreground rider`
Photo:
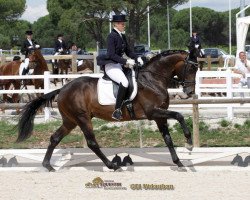
[[[128,79],[122,71],[121,64],[109,63],[105,65],[105,71],[107,75],[116,83],[122,84],[123,87],[128,87]]]

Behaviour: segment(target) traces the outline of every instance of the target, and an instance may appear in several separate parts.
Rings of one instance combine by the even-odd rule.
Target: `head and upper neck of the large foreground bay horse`
[[[195,92],[195,76],[198,65],[188,60],[188,53],[183,50],[168,50],[157,54],[146,62],[142,72],[149,72],[169,88],[172,80],[183,86],[183,91],[191,96]],[[153,76],[152,76],[153,75]],[[174,79],[177,76],[177,79]],[[150,77],[148,77],[150,78]]]

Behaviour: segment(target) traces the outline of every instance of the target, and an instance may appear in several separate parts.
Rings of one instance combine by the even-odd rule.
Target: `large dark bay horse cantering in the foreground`
[[[168,86],[171,78],[178,76],[183,91],[191,96],[195,91],[195,75],[197,65],[187,60],[187,55],[180,52],[163,52],[153,57],[142,68],[137,75],[138,93],[132,101],[135,110],[135,119],[154,120],[166,145],[169,148],[173,162],[183,169],[183,164],[178,158],[167,126],[167,120],[177,120],[186,137],[186,148],[192,150],[192,138],[182,114],[170,111]],[[57,97],[59,112],[62,116],[62,125],[50,137],[42,165],[49,171],[55,171],[50,164],[54,149],[60,141],[68,135],[76,126],[79,126],[86,138],[88,147],[113,170],[120,167],[112,163],[100,150],[95,139],[91,119],[93,117],[114,121],[111,117],[114,105],[103,106],[98,103],[97,96],[98,78],[84,76],[74,79],[61,89],[54,90],[27,103],[23,108],[19,122],[17,142],[29,138],[34,127],[34,118],[37,110],[42,106],[51,106],[53,99]],[[122,121],[130,121],[130,115],[123,108]]]

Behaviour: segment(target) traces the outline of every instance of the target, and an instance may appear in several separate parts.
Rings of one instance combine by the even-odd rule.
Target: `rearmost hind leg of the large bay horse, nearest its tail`
[[[43,159],[43,166],[47,168],[49,171],[55,171],[55,169],[50,164],[50,159],[53,154],[54,149],[60,143],[60,141],[70,133],[72,129],[76,127],[73,123],[63,122],[63,125],[56,130],[56,132],[50,137],[50,144],[46,151],[46,154]]]

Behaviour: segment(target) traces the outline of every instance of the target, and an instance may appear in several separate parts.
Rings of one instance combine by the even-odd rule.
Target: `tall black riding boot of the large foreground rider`
[[[118,94],[116,97],[116,104],[115,104],[115,111],[112,114],[112,118],[116,120],[121,120],[122,119],[122,103],[126,94],[127,88],[123,87],[123,85],[120,83],[119,89],[118,89]]]

